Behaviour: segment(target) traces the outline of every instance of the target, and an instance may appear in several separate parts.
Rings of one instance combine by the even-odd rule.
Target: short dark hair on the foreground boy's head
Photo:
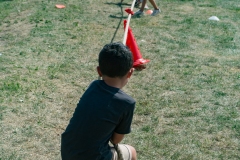
[[[98,63],[103,75],[123,77],[133,67],[133,57],[128,47],[115,42],[103,47],[99,53]]]

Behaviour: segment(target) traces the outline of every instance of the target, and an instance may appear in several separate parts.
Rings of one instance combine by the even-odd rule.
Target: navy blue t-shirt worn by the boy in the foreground
[[[61,139],[63,160],[111,160],[108,142],[114,132],[128,134],[135,100],[103,80],[82,95]]]

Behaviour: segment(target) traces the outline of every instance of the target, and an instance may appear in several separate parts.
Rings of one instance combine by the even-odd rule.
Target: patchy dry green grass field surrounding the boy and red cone
[[[119,1],[0,0],[0,160],[61,159],[99,51],[123,39],[132,1]],[[157,4],[160,15],[130,23],[151,61],[124,88],[137,104],[123,143],[139,160],[239,160],[239,0]]]

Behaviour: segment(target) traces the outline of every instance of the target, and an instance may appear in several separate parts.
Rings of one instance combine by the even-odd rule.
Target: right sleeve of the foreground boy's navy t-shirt
[[[118,134],[128,134],[131,132],[131,124],[132,124],[134,108],[135,108],[135,103],[127,107],[127,109],[123,113],[120,123],[117,125],[114,132]]]

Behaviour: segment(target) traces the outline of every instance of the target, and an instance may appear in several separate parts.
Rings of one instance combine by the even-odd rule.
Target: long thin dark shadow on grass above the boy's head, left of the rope
[[[123,18],[127,18],[127,16],[123,16],[123,7],[122,7],[122,6],[123,6],[123,5],[129,6],[129,4],[127,4],[127,3],[121,3],[121,2],[119,2],[119,3],[109,2],[109,3],[105,3],[105,4],[108,4],[108,5],[117,5],[117,6],[119,6],[120,9],[121,9],[121,15],[120,15],[120,16],[109,15],[110,18],[120,19],[120,21],[119,21],[119,23],[118,23],[118,26],[117,26],[117,28],[116,28],[116,30],[115,30],[115,32],[114,32],[114,34],[113,34],[113,37],[112,37],[112,39],[111,39],[111,42],[110,42],[110,43],[112,43],[113,40],[115,39],[115,36],[116,36],[118,30],[119,30],[119,27],[120,27],[120,25],[121,25],[121,23],[122,23]]]

